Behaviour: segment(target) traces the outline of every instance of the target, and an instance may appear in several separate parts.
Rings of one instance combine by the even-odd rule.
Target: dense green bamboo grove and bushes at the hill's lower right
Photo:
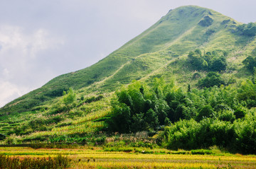
[[[169,148],[208,148],[217,145],[255,153],[256,85],[213,86],[183,92],[174,83],[156,78],[149,87],[134,81],[117,91],[108,120],[112,132],[130,133],[164,128]]]

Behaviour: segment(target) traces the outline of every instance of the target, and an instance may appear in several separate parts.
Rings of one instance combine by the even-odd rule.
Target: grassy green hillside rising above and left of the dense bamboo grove
[[[0,133],[19,135],[22,141],[63,135],[72,141],[76,134],[105,131],[113,100],[117,100],[114,91],[133,80],[154,86],[154,79],[161,78],[172,84],[171,90],[183,91],[188,84],[190,88],[208,88],[213,77],[214,82],[220,80],[215,86],[239,86],[252,78],[242,61],[256,54],[255,29],[255,23],[242,24],[207,8],[170,10],[97,64],[53,78],[2,107]],[[214,76],[210,71],[215,71]],[[69,88],[76,97],[70,93],[63,96]]]

